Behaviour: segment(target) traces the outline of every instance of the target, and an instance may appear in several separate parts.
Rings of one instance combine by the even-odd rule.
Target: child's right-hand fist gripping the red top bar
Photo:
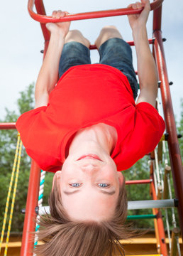
[[[132,29],[145,26],[150,13],[150,0],[141,0],[141,3],[136,2],[135,4],[130,4],[128,7],[132,7],[133,9],[144,7],[140,14],[128,15],[128,21]]]

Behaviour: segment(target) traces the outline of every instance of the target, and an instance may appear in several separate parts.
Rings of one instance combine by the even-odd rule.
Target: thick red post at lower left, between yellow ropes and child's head
[[[33,232],[35,232],[35,207],[38,206],[40,168],[32,161],[28,184],[26,215],[23,225],[21,256],[33,255]],[[32,234],[31,234],[32,233]]]

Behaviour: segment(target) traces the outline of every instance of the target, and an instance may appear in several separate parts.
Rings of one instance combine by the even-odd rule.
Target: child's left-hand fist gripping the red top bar
[[[67,11],[53,11],[52,18],[63,18],[66,14],[69,14]],[[51,33],[62,33],[62,36],[67,35],[70,30],[70,21],[67,22],[58,22],[58,23],[46,23],[46,27]]]

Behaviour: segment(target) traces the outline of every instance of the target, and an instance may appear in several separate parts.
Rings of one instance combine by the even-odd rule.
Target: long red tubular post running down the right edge
[[[183,235],[183,170],[182,159],[179,150],[179,142],[177,139],[177,129],[174,121],[174,112],[172,107],[172,100],[170,95],[170,86],[167,76],[167,67],[165,62],[165,53],[162,44],[161,31],[155,31],[155,59],[157,63],[157,71],[160,80],[162,81],[160,90],[162,95],[162,107],[165,117],[166,129],[169,134],[168,148],[170,154],[170,163],[172,167],[172,177],[174,181],[174,192],[176,198],[179,200],[178,212],[179,223]]]

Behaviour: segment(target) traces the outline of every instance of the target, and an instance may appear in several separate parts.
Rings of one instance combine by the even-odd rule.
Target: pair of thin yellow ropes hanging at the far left
[[[9,210],[9,200],[10,200],[10,197],[11,197],[11,189],[12,189],[12,186],[13,186],[13,179],[14,179],[14,174],[15,174],[15,171],[16,171],[16,163],[17,163],[17,159],[18,159],[18,165],[17,165],[17,171],[16,171],[16,181],[15,181],[15,186],[17,186],[20,159],[21,159],[21,147],[22,147],[21,138],[20,138],[20,134],[18,134],[18,139],[17,139],[17,144],[16,144],[16,154],[15,154],[13,169],[12,169],[12,173],[11,173],[11,180],[10,180],[10,183],[9,183],[9,191],[8,191],[8,195],[7,195],[7,198],[6,198],[6,206],[5,206],[5,212],[4,212],[4,222],[3,222],[3,226],[2,226],[1,240],[0,240],[0,252],[1,252],[1,245],[2,245],[2,242],[3,242],[3,239],[4,239],[4,231],[5,231],[5,227],[6,227],[7,214],[8,214],[8,210]],[[19,149],[19,151],[18,151],[18,149]],[[14,190],[13,190],[13,197],[14,198],[15,198],[15,193],[16,193],[16,189],[14,188]],[[12,218],[12,215],[13,215],[12,204],[14,205],[14,199],[12,199],[12,203],[11,203],[11,216],[10,216],[10,220],[9,220],[9,232],[10,232],[10,227],[11,227],[11,218]],[[8,235],[7,235],[7,237],[8,237]]]

